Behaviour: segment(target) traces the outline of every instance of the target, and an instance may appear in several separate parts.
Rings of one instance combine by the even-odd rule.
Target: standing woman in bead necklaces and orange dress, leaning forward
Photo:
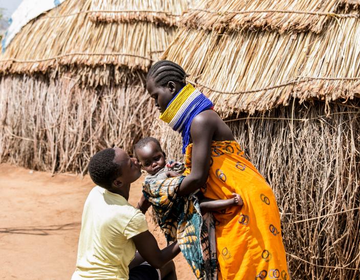
[[[186,84],[184,69],[156,62],[147,90],[160,118],[182,133],[186,178],[179,195],[199,186],[205,197],[228,199],[238,193],[243,207],[214,213],[219,279],[289,279],[275,196],[256,168],[243,157],[230,128],[200,91]]]

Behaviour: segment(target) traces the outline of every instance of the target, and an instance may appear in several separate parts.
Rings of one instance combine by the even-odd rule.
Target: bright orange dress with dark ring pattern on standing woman
[[[191,153],[192,144],[184,175],[191,172]],[[214,212],[218,279],[290,279],[275,196],[235,141],[212,142],[209,178],[201,191],[211,199],[238,193],[244,202],[241,209]]]

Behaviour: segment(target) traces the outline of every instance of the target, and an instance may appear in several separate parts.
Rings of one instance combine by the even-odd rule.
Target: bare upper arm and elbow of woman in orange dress
[[[209,176],[211,142],[214,134],[213,114],[207,111],[195,116],[191,123],[192,138],[191,172],[179,186],[178,195],[185,196],[200,189]]]

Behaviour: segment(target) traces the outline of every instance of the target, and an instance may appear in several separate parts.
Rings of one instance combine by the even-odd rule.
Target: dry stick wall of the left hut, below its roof
[[[83,173],[114,145],[131,153],[155,113],[136,80],[83,90],[66,77],[7,76],[0,92],[0,161],[51,172]]]

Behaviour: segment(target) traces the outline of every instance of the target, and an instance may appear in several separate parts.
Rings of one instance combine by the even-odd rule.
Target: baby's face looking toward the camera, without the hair
[[[153,142],[137,150],[139,161],[142,168],[150,175],[155,175],[160,169],[165,167],[164,152]]]

